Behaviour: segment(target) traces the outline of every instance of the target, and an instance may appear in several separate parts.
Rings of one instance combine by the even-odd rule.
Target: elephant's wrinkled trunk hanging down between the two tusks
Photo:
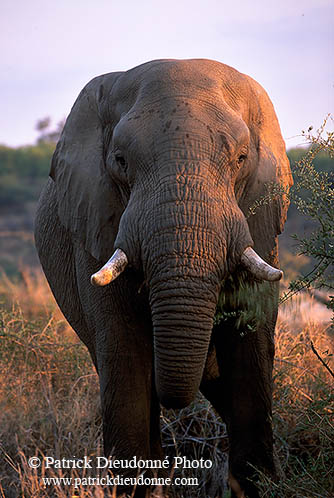
[[[227,271],[223,217],[214,216],[212,202],[206,200],[155,205],[143,230],[155,385],[167,408],[189,405],[198,392]]]

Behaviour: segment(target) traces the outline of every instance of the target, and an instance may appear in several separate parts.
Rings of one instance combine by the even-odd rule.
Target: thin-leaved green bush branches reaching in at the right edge
[[[267,193],[250,208],[249,215],[277,196],[287,196],[297,210],[312,221],[314,229],[309,235],[293,235],[299,255],[313,258],[314,265],[306,275],[300,275],[289,284],[288,292],[280,299],[284,303],[304,289],[334,289],[334,176],[333,171],[319,171],[315,160],[319,154],[334,159],[334,132],[327,131],[333,117],[328,115],[316,133],[309,127],[302,135],[309,144],[304,156],[291,165],[294,185],[288,192],[276,184],[267,185]],[[327,306],[334,313],[334,299]],[[334,315],[333,315],[334,325]]]

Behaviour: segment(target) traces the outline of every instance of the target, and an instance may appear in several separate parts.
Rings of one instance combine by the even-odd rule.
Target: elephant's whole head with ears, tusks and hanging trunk
[[[208,60],[97,77],[72,108],[50,175],[62,224],[101,264],[108,260],[93,282],[110,283],[126,265],[138,287],[145,281],[159,399],[187,405],[224,278],[241,267],[254,278],[281,277],[265,260],[274,261],[287,204],[274,199],[246,219],[266,183],[291,182],[267,94]]]

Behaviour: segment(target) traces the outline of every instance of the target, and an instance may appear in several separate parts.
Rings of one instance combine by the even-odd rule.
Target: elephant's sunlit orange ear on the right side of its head
[[[247,217],[255,250],[270,261],[286,221],[289,199],[283,192],[289,191],[292,175],[274,107],[263,88],[249,80],[254,92],[248,123],[252,164],[239,206]],[[268,196],[273,190],[276,193]]]

